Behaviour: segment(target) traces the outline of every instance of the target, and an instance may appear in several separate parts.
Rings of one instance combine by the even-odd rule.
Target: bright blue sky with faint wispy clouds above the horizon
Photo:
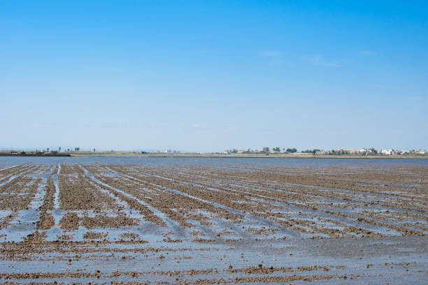
[[[427,1],[1,1],[0,147],[428,148]]]

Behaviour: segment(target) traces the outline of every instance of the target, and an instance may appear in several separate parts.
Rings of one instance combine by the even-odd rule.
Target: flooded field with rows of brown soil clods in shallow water
[[[428,160],[1,158],[0,281],[425,284]]]

